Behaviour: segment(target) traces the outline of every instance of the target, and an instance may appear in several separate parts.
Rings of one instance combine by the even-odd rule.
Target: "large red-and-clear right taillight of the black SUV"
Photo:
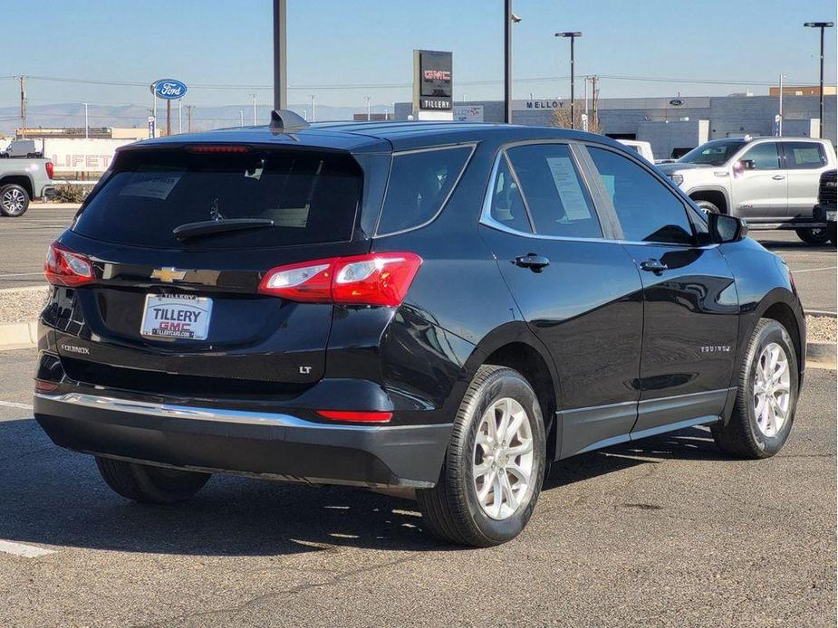
[[[411,252],[290,264],[268,271],[259,292],[307,303],[397,307],[421,265],[422,258]]]

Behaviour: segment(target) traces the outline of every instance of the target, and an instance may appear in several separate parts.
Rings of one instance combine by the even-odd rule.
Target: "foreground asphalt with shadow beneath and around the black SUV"
[[[584,454],[520,538],[474,550],[362,490],[123,500],[31,418],[34,359],[0,353],[0,625],[834,625],[834,371],[810,369],[775,458],[704,429]]]

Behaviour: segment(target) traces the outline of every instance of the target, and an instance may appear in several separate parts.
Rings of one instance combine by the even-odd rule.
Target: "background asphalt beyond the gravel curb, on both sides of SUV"
[[[33,207],[20,218],[0,217],[0,290],[43,282],[46,248],[74,214],[75,209]],[[805,309],[835,312],[834,248],[809,246],[789,231],[752,231],[751,235],[788,262]]]

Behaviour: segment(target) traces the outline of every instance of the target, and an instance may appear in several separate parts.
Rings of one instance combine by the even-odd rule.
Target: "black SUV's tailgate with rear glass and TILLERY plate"
[[[64,233],[96,281],[44,312],[67,374],[143,392],[294,391],[323,376],[331,303],[257,293],[276,266],[368,252],[348,153],[127,151]],[[184,224],[273,221],[178,240]],[[199,231],[199,230],[198,230]],[[174,377],[173,377],[174,376]]]

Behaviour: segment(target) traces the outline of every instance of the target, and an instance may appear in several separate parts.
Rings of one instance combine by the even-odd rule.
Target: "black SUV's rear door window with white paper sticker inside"
[[[524,189],[535,233],[601,238],[593,203],[564,144],[533,144],[507,151]]]

